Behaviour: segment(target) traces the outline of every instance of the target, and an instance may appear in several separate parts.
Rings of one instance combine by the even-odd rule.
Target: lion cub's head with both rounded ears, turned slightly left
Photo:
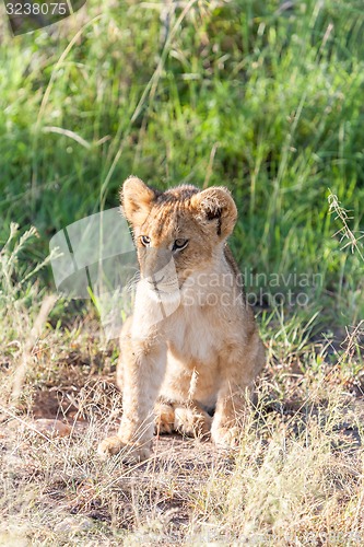
[[[237,211],[224,187],[200,191],[186,185],[158,191],[131,176],[120,193],[134,234],[141,277],[151,289],[172,292],[193,272],[221,260]]]

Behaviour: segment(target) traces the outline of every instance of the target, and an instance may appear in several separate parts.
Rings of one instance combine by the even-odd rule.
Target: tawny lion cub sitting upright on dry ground
[[[122,212],[132,226],[141,279],[125,323],[118,364],[124,412],[102,456],[151,454],[153,430],[234,446],[238,420],[265,364],[253,311],[226,238],[237,211],[224,187],[164,193],[129,177]],[[213,418],[211,417],[213,414]]]

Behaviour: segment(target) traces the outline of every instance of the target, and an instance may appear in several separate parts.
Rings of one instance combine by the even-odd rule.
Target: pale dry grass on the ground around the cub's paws
[[[150,462],[126,466],[95,455],[117,427],[121,400],[113,385],[114,348],[101,350],[86,325],[44,330],[31,351],[36,368],[27,370],[23,398],[17,407],[11,399],[1,405],[0,544],[242,545],[249,538],[347,546],[363,539],[357,330],[331,363],[326,341],[316,342],[309,366],[306,354],[275,364],[271,356],[238,451],[165,437],[155,440]],[[2,385],[13,385],[14,376],[16,356],[2,368]],[[40,417],[68,422],[70,434],[37,431]]]

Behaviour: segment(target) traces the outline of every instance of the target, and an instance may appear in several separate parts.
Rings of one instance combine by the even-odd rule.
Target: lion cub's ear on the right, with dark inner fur
[[[237,210],[227,188],[219,186],[202,190],[192,196],[191,205],[199,211],[203,223],[211,224],[221,238],[234,230]]]

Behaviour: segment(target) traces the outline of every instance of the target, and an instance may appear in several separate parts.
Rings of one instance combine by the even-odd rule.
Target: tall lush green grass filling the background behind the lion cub
[[[242,266],[321,274],[322,292],[339,284],[342,310],[361,267],[332,237],[327,197],[330,188],[360,230],[359,2],[283,12],[191,2],[162,26],[161,4],[103,5],[90,2],[50,36],[4,39],[2,234],[10,221],[34,224],[45,254],[55,231],[115,207],[130,173],[158,187],[225,184],[239,208]],[[345,309],[342,324],[353,315]]]

